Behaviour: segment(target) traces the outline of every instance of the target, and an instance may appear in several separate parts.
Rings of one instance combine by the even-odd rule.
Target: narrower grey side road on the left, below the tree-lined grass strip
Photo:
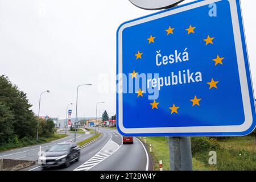
[[[38,152],[40,150],[40,146],[42,150],[47,150],[55,143],[68,142],[74,140],[73,133],[68,133],[68,137],[54,140],[52,142],[38,144],[36,146],[17,148],[14,150],[3,151],[0,152],[0,159],[17,159],[17,160],[36,160],[38,159]],[[77,134],[77,142],[89,138],[91,135],[89,134]]]

